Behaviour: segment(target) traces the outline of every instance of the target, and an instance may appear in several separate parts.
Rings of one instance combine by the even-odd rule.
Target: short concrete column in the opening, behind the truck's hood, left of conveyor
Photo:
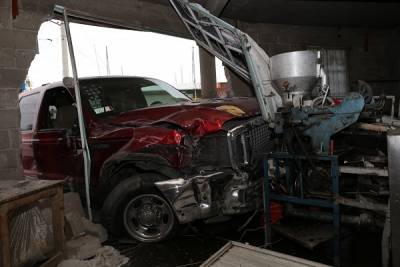
[[[199,49],[199,57],[202,98],[214,98],[217,96],[215,57],[203,48]]]

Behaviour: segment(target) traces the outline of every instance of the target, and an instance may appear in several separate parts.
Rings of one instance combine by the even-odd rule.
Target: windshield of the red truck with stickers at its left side
[[[96,117],[190,99],[171,85],[145,78],[99,78],[79,82],[82,99]]]

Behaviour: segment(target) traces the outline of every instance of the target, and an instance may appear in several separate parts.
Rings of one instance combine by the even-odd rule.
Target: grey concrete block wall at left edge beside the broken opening
[[[0,179],[21,179],[19,85],[37,53],[37,32],[49,13],[41,1],[20,1],[12,19],[11,1],[0,0]]]

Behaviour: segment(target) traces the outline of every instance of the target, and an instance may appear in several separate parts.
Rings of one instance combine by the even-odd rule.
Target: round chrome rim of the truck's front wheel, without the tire
[[[164,239],[172,230],[174,214],[168,203],[155,194],[133,198],[124,210],[124,225],[135,239],[154,242]]]

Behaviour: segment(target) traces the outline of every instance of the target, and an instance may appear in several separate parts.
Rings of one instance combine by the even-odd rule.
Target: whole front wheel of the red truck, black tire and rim
[[[161,180],[165,177],[146,173],[121,181],[103,204],[104,226],[113,235],[125,232],[141,242],[159,242],[173,236],[178,228],[175,213],[154,186]]]

